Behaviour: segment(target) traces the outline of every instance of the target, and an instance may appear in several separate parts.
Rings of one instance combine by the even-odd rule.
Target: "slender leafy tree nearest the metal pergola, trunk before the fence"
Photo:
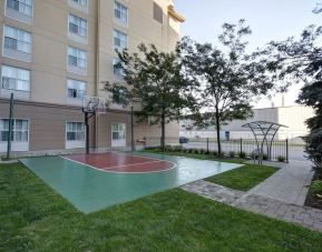
[[[254,98],[273,88],[266,65],[256,61],[256,54],[245,52],[244,38],[250,33],[244,20],[240,20],[238,24],[223,26],[218,37],[222,49],[189,38],[178,46],[184,72],[194,83],[197,98],[191,118],[197,127],[216,127],[219,154],[221,125],[251,117]]]

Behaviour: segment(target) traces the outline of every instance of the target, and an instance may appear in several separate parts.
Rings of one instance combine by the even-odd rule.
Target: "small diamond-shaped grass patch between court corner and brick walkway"
[[[270,178],[276,171],[277,168],[245,164],[235,170],[207,178],[206,181],[240,191],[248,191]]]

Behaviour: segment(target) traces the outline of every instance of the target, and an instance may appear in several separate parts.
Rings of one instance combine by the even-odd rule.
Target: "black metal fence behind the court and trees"
[[[160,138],[145,138],[140,142],[143,148],[160,147]],[[187,142],[179,143],[177,138],[166,138],[167,147],[179,147],[180,149],[194,149],[203,152],[218,152],[217,139],[198,138],[191,139]],[[263,152],[263,160],[289,162],[289,140],[273,140],[271,143],[264,143],[263,149],[261,141],[258,145],[254,139],[235,139],[221,141],[222,153],[226,157],[245,157],[257,159]]]

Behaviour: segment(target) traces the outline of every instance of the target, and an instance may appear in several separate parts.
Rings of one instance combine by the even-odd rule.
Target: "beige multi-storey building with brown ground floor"
[[[9,97],[14,94],[12,150],[85,148],[84,95],[108,95],[121,80],[115,49],[142,42],[173,50],[184,21],[172,0],[0,0],[0,152],[7,150]],[[135,140],[158,138],[157,125],[135,125]],[[177,123],[167,127],[178,138]],[[110,102],[91,119],[90,147],[130,145],[130,112]]]

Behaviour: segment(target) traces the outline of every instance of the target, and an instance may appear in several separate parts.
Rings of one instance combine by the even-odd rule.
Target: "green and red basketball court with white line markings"
[[[241,167],[143,152],[41,157],[20,162],[84,213]]]

